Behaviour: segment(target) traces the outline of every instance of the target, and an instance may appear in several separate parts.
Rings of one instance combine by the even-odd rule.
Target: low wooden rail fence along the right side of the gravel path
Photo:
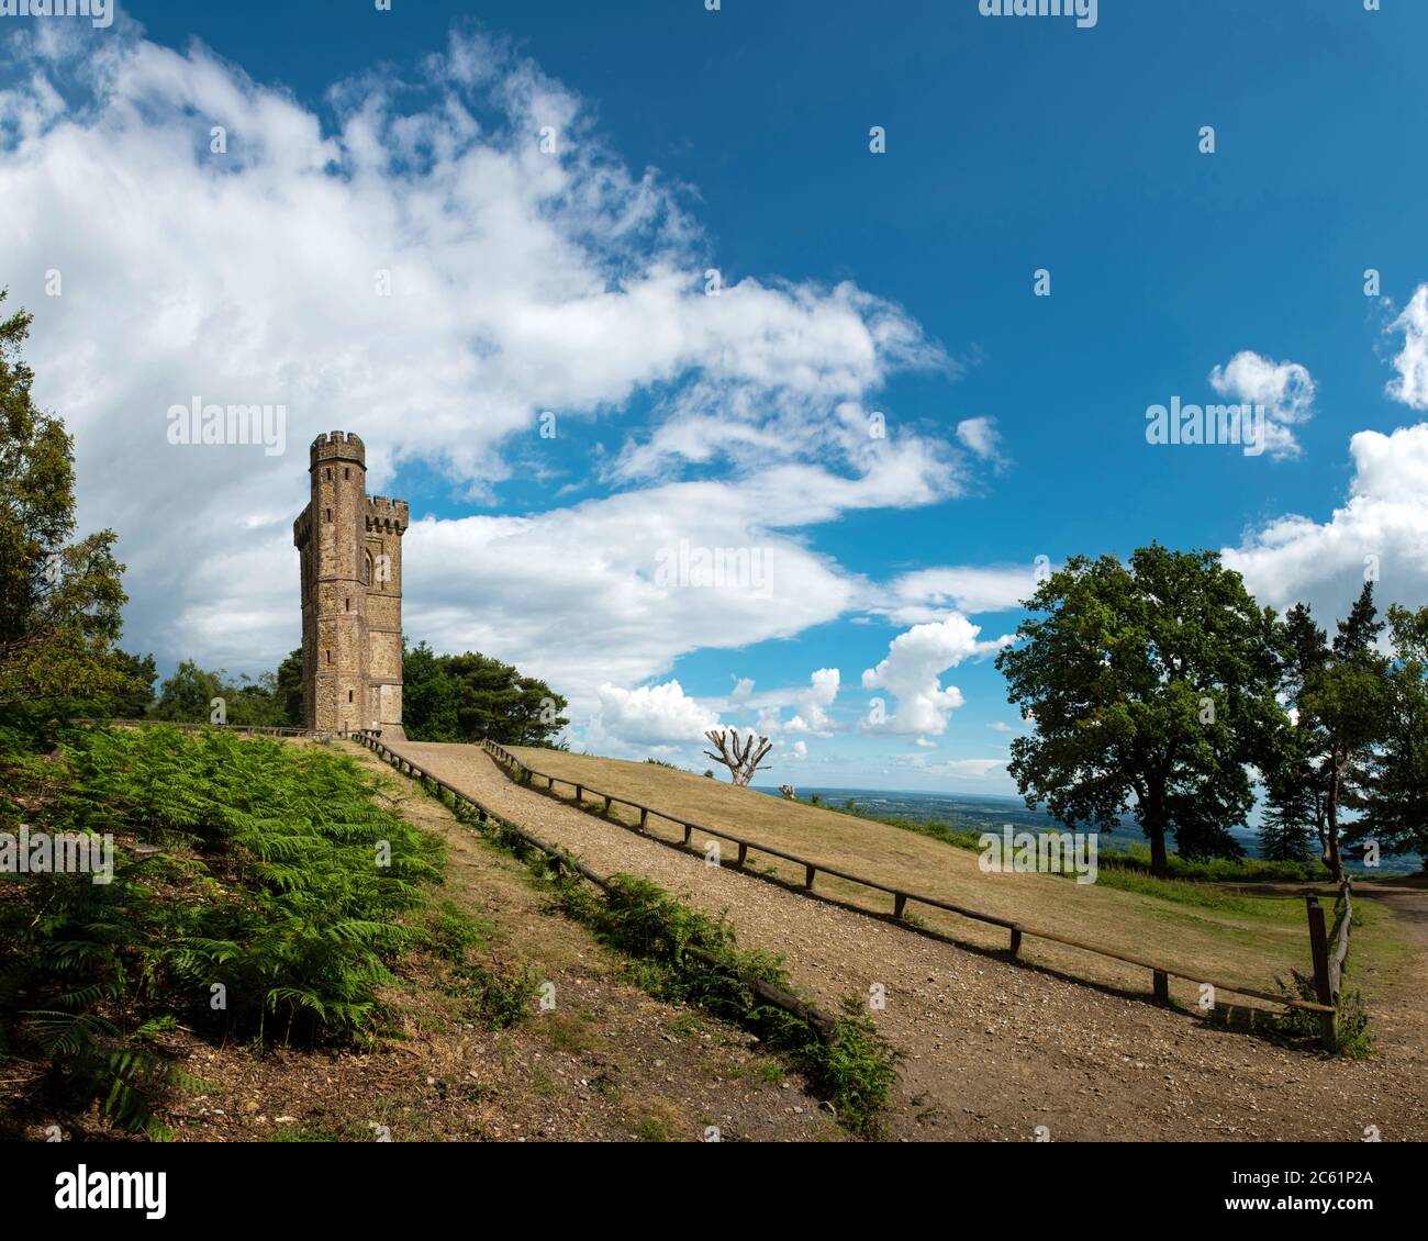
[[[1031,935],[1031,937],[1038,938],[1038,940],[1048,940],[1050,943],[1061,944],[1061,945],[1064,945],[1067,948],[1077,948],[1077,950],[1080,950],[1082,953],[1092,953],[1092,954],[1095,954],[1098,957],[1107,957],[1107,958],[1110,958],[1112,961],[1120,961],[1120,963],[1122,963],[1125,965],[1135,965],[1137,968],[1141,968],[1141,970],[1150,970],[1151,975],[1152,975],[1154,994],[1155,994],[1155,998],[1160,1000],[1160,1001],[1170,1000],[1170,980],[1171,978],[1182,978],[1187,983],[1208,984],[1210,987],[1214,987],[1215,991],[1228,991],[1232,995],[1248,995],[1248,997],[1252,997],[1255,1000],[1264,1000],[1268,1004],[1282,1005],[1285,1008],[1301,1008],[1301,1010],[1304,1010],[1307,1013],[1318,1013],[1318,1014],[1327,1017],[1328,1020],[1332,1020],[1332,1014],[1335,1011],[1334,1001],[1332,1000],[1324,1000],[1322,997],[1318,998],[1317,1001],[1311,1001],[1311,1000],[1287,1000],[1284,995],[1271,995],[1268,991],[1255,991],[1255,990],[1252,990],[1250,987],[1242,987],[1238,983],[1237,984],[1230,984],[1230,983],[1215,981],[1214,978],[1205,978],[1198,971],[1197,973],[1191,973],[1191,971],[1184,970],[1184,968],[1181,968],[1178,965],[1164,965],[1164,964],[1157,964],[1154,961],[1147,961],[1147,960],[1144,960],[1141,957],[1131,957],[1131,955],[1128,955],[1125,953],[1112,953],[1110,948],[1101,948],[1101,947],[1097,947],[1095,944],[1085,944],[1085,943],[1082,943],[1080,940],[1072,940],[1072,938],[1070,938],[1067,935],[1061,935],[1061,934],[1057,934],[1054,931],[1047,931],[1047,930],[1041,930],[1041,928],[1037,928],[1037,927],[1028,927],[1025,923],[1021,923],[1021,921],[1014,921],[1014,920],[1010,920],[1010,918],[1000,918],[995,914],[985,914],[985,913],[981,913],[978,910],[965,908],[964,905],[955,905],[951,901],[944,901],[944,900],[941,900],[938,897],[932,897],[932,895],[928,895],[925,893],[914,893],[914,891],[907,891],[907,890],[902,890],[902,888],[894,888],[894,887],[890,887],[888,884],[878,883],[877,880],[870,880],[870,878],[865,878],[863,875],[848,874],[847,871],[837,870],[835,867],[825,865],[824,863],[813,861],[813,860],[805,858],[805,857],[798,857],[797,854],[788,853],[788,851],[781,850],[781,848],[775,848],[775,847],[768,845],[768,844],[763,844],[763,843],[755,841],[755,840],[748,840],[745,837],[737,835],[737,834],[734,834],[734,833],[731,833],[731,831],[728,831],[725,828],[721,828],[721,827],[708,827],[708,825],[701,824],[701,823],[694,823],[691,820],[681,818],[680,815],[670,814],[668,811],[657,810],[657,808],[654,808],[651,805],[644,805],[643,803],[638,803],[638,801],[631,801],[628,797],[617,797],[617,795],[614,795],[611,793],[601,793],[600,790],[590,788],[587,784],[584,784],[581,781],[570,780],[570,778],[567,778],[564,775],[551,775],[547,771],[537,771],[534,767],[527,765],[520,758],[517,758],[514,754],[511,754],[511,751],[507,750],[504,745],[498,745],[494,741],[487,740],[487,741],[483,741],[481,745],[486,748],[486,751],[493,758],[496,758],[497,761],[500,761],[500,763],[506,764],[508,768],[511,768],[513,778],[516,778],[520,783],[533,784],[533,781],[537,780],[537,778],[538,780],[544,780],[545,781],[545,788],[550,790],[550,791],[554,791],[557,784],[567,784],[567,785],[570,785],[571,788],[575,790],[575,800],[577,800],[577,803],[581,801],[581,798],[587,793],[591,797],[603,798],[604,804],[605,804],[604,808],[605,808],[607,814],[610,811],[610,807],[615,805],[615,804],[617,805],[625,805],[625,807],[630,807],[631,810],[640,811],[640,823],[638,823],[638,825],[624,824],[624,823],[620,823],[620,820],[611,820],[611,823],[620,823],[621,827],[627,827],[630,831],[634,831],[637,834],[645,835],[648,840],[658,841],[660,844],[667,844],[671,848],[691,850],[690,841],[693,838],[693,834],[695,831],[698,831],[698,833],[704,833],[707,835],[718,837],[720,840],[733,841],[735,845],[738,845],[738,855],[737,855],[737,860],[734,861],[734,868],[735,870],[737,868],[743,868],[743,865],[748,860],[748,851],[753,850],[754,853],[768,854],[770,857],[783,858],[784,861],[793,863],[795,865],[801,865],[804,868],[804,883],[801,885],[804,891],[811,893],[814,890],[814,880],[815,880],[815,877],[820,875],[820,874],[824,874],[824,875],[833,875],[834,878],[844,880],[845,883],[857,884],[860,887],[870,888],[873,891],[890,895],[890,897],[892,897],[891,921],[894,921],[894,923],[902,923],[904,921],[904,915],[907,913],[908,904],[928,905],[930,908],[944,910],[945,913],[957,914],[958,917],[968,918],[971,921],[985,923],[985,924],[994,925],[994,927],[1002,927],[1004,930],[1007,930],[1010,933],[1010,937],[1011,937],[1011,943],[1008,945],[1008,955],[1012,957],[1012,958],[1015,958],[1017,954],[1021,951],[1021,941],[1022,941],[1022,937],[1025,937],[1025,935]],[[657,835],[648,835],[647,827],[648,827],[650,815],[655,815],[657,818],[663,818],[663,820],[665,820],[668,823],[673,823],[675,827],[683,828],[683,833],[684,833],[684,841],[683,841],[683,844],[677,844],[674,841],[661,840]],[[697,853],[697,850],[691,850],[691,851]],[[794,891],[798,891],[798,887],[795,887],[794,884],[787,884],[787,887],[790,887]],[[863,910],[861,913],[867,913],[871,917],[883,918],[884,921],[888,920],[888,915],[878,914],[878,913],[875,913],[873,910]],[[1347,944],[1347,933],[1345,933],[1345,944]]]

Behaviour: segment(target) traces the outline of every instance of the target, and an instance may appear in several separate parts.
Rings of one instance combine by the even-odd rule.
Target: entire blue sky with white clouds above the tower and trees
[[[717,718],[780,781],[1007,793],[1037,557],[1224,548],[1321,620],[1375,557],[1428,601],[1428,6],[1385,10],[0,17],[0,283],[164,665],[297,644],[306,444],[348,427],[418,520],[408,634],[548,677],[577,747],[703,765]],[[286,453],[171,450],[190,393],[284,403]],[[1265,403],[1272,451],[1148,444],[1172,397]],[[665,588],[681,540],[768,597]]]

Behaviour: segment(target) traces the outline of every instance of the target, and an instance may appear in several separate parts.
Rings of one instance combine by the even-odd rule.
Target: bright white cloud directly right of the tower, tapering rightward
[[[738,484],[673,483],[533,517],[417,521],[406,536],[404,624],[438,650],[487,651],[544,677],[578,724],[603,681],[637,684],[694,648],[794,637],[854,603],[857,578],[760,530],[757,508]],[[764,548],[767,591],[660,584],[661,553],[691,533]]]

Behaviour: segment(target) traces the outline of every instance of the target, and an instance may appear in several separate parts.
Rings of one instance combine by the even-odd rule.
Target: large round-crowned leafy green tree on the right
[[[1170,833],[1187,857],[1242,853],[1228,824],[1282,721],[1274,613],[1217,553],[1158,544],[1130,564],[1072,557],[1025,607],[1040,616],[997,667],[1035,724],[1011,745],[1027,805],[1107,830],[1131,813],[1162,877]]]

